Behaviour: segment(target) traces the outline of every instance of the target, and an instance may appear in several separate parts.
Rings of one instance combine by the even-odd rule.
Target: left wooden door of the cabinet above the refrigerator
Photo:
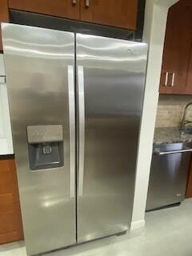
[[[80,0],[8,0],[9,8],[79,19]]]

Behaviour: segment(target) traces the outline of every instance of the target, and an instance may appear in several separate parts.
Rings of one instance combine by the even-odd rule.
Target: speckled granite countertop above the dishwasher
[[[183,134],[178,127],[156,128],[154,130],[154,145],[177,142],[192,142],[191,134]]]

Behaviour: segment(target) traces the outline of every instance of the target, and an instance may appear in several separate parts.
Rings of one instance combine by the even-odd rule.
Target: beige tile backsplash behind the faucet
[[[192,102],[192,95],[160,95],[156,127],[180,127],[186,104]],[[192,106],[187,110],[186,119],[192,121]]]

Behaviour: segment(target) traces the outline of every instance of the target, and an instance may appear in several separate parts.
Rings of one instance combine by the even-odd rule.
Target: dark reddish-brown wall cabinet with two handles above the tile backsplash
[[[168,13],[160,93],[192,94],[186,80],[192,42],[192,2],[183,0]]]

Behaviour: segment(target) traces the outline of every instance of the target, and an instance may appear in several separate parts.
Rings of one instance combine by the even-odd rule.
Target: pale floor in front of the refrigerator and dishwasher
[[[146,227],[46,256],[192,256],[192,199],[146,214]],[[26,256],[23,242],[0,246],[0,256]]]

